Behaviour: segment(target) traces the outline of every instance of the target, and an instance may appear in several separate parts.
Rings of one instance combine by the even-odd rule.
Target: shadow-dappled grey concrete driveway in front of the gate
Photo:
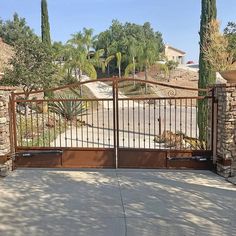
[[[17,170],[2,236],[236,235],[236,187],[210,171]]]

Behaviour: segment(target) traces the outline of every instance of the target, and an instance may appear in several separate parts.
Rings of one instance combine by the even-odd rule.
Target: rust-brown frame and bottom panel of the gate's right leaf
[[[141,82],[144,84],[160,85],[172,89],[181,89],[181,90],[190,90],[205,92],[206,96],[197,96],[189,97],[190,99],[207,99],[208,105],[211,106],[211,127],[208,127],[208,132],[210,133],[210,149],[209,150],[176,150],[176,149],[148,149],[148,148],[122,148],[119,144],[119,101],[123,99],[119,98],[119,83],[131,81],[131,82]],[[214,88],[207,89],[195,89],[181,86],[167,85],[156,81],[147,81],[139,79],[127,79],[127,78],[118,78],[114,80],[115,88],[115,123],[116,123],[116,168],[189,168],[189,169],[212,169],[213,162],[213,147],[214,147],[214,138],[215,138],[215,105],[216,101],[214,99]],[[183,97],[184,98],[184,97]],[[136,97],[130,100],[142,100],[142,97]],[[155,99],[149,97],[146,99]],[[161,99],[182,99],[181,97],[163,97]],[[126,100],[126,99],[125,99]],[[129,100],[129,99],[127,99]]]

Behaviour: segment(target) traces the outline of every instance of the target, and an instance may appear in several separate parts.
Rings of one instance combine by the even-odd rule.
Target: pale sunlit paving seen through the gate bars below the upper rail
[[[131,148],[165,148],[163,143],[154,142],[156,135],[169,130],[173,133],[182,131],[189,137],[198,136],[196,122],[196,109],[182,109],[156,105],[156,109],[144,104],[130,107],[120,104],[119,119],[119,145]],[[171,114],[171,116],[170,116]],[[160,123],[158,118],[160,117]],[[87,125],[71,126],[66,132],[58,135],[52,141],[52,147],[114,147],[113,110],[99,107],[98,110],[89,110],[88,115],[80,118]],[[174,141],[174,140],[173,140]],[[183,144],[184,147],[187,147]]]

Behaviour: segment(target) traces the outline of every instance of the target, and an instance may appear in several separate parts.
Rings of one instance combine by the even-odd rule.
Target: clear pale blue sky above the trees
[[[198,61],[201,0],[48,0],[51,38],[66,42],[84,27],[94,34],[106,30],[113,19],[122,23],[149,21],[164,42],[186,52],[186,61]],[[0,18],[24,17],[40,35],[40,0],[0,0]],[[217,0],[222,29],[236,22],[236,0]]]

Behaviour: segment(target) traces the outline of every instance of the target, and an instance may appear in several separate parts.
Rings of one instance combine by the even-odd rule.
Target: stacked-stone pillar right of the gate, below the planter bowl
[[[236,176],[236,85],[215,87],[218,102],[216,167],[224,177]]]

